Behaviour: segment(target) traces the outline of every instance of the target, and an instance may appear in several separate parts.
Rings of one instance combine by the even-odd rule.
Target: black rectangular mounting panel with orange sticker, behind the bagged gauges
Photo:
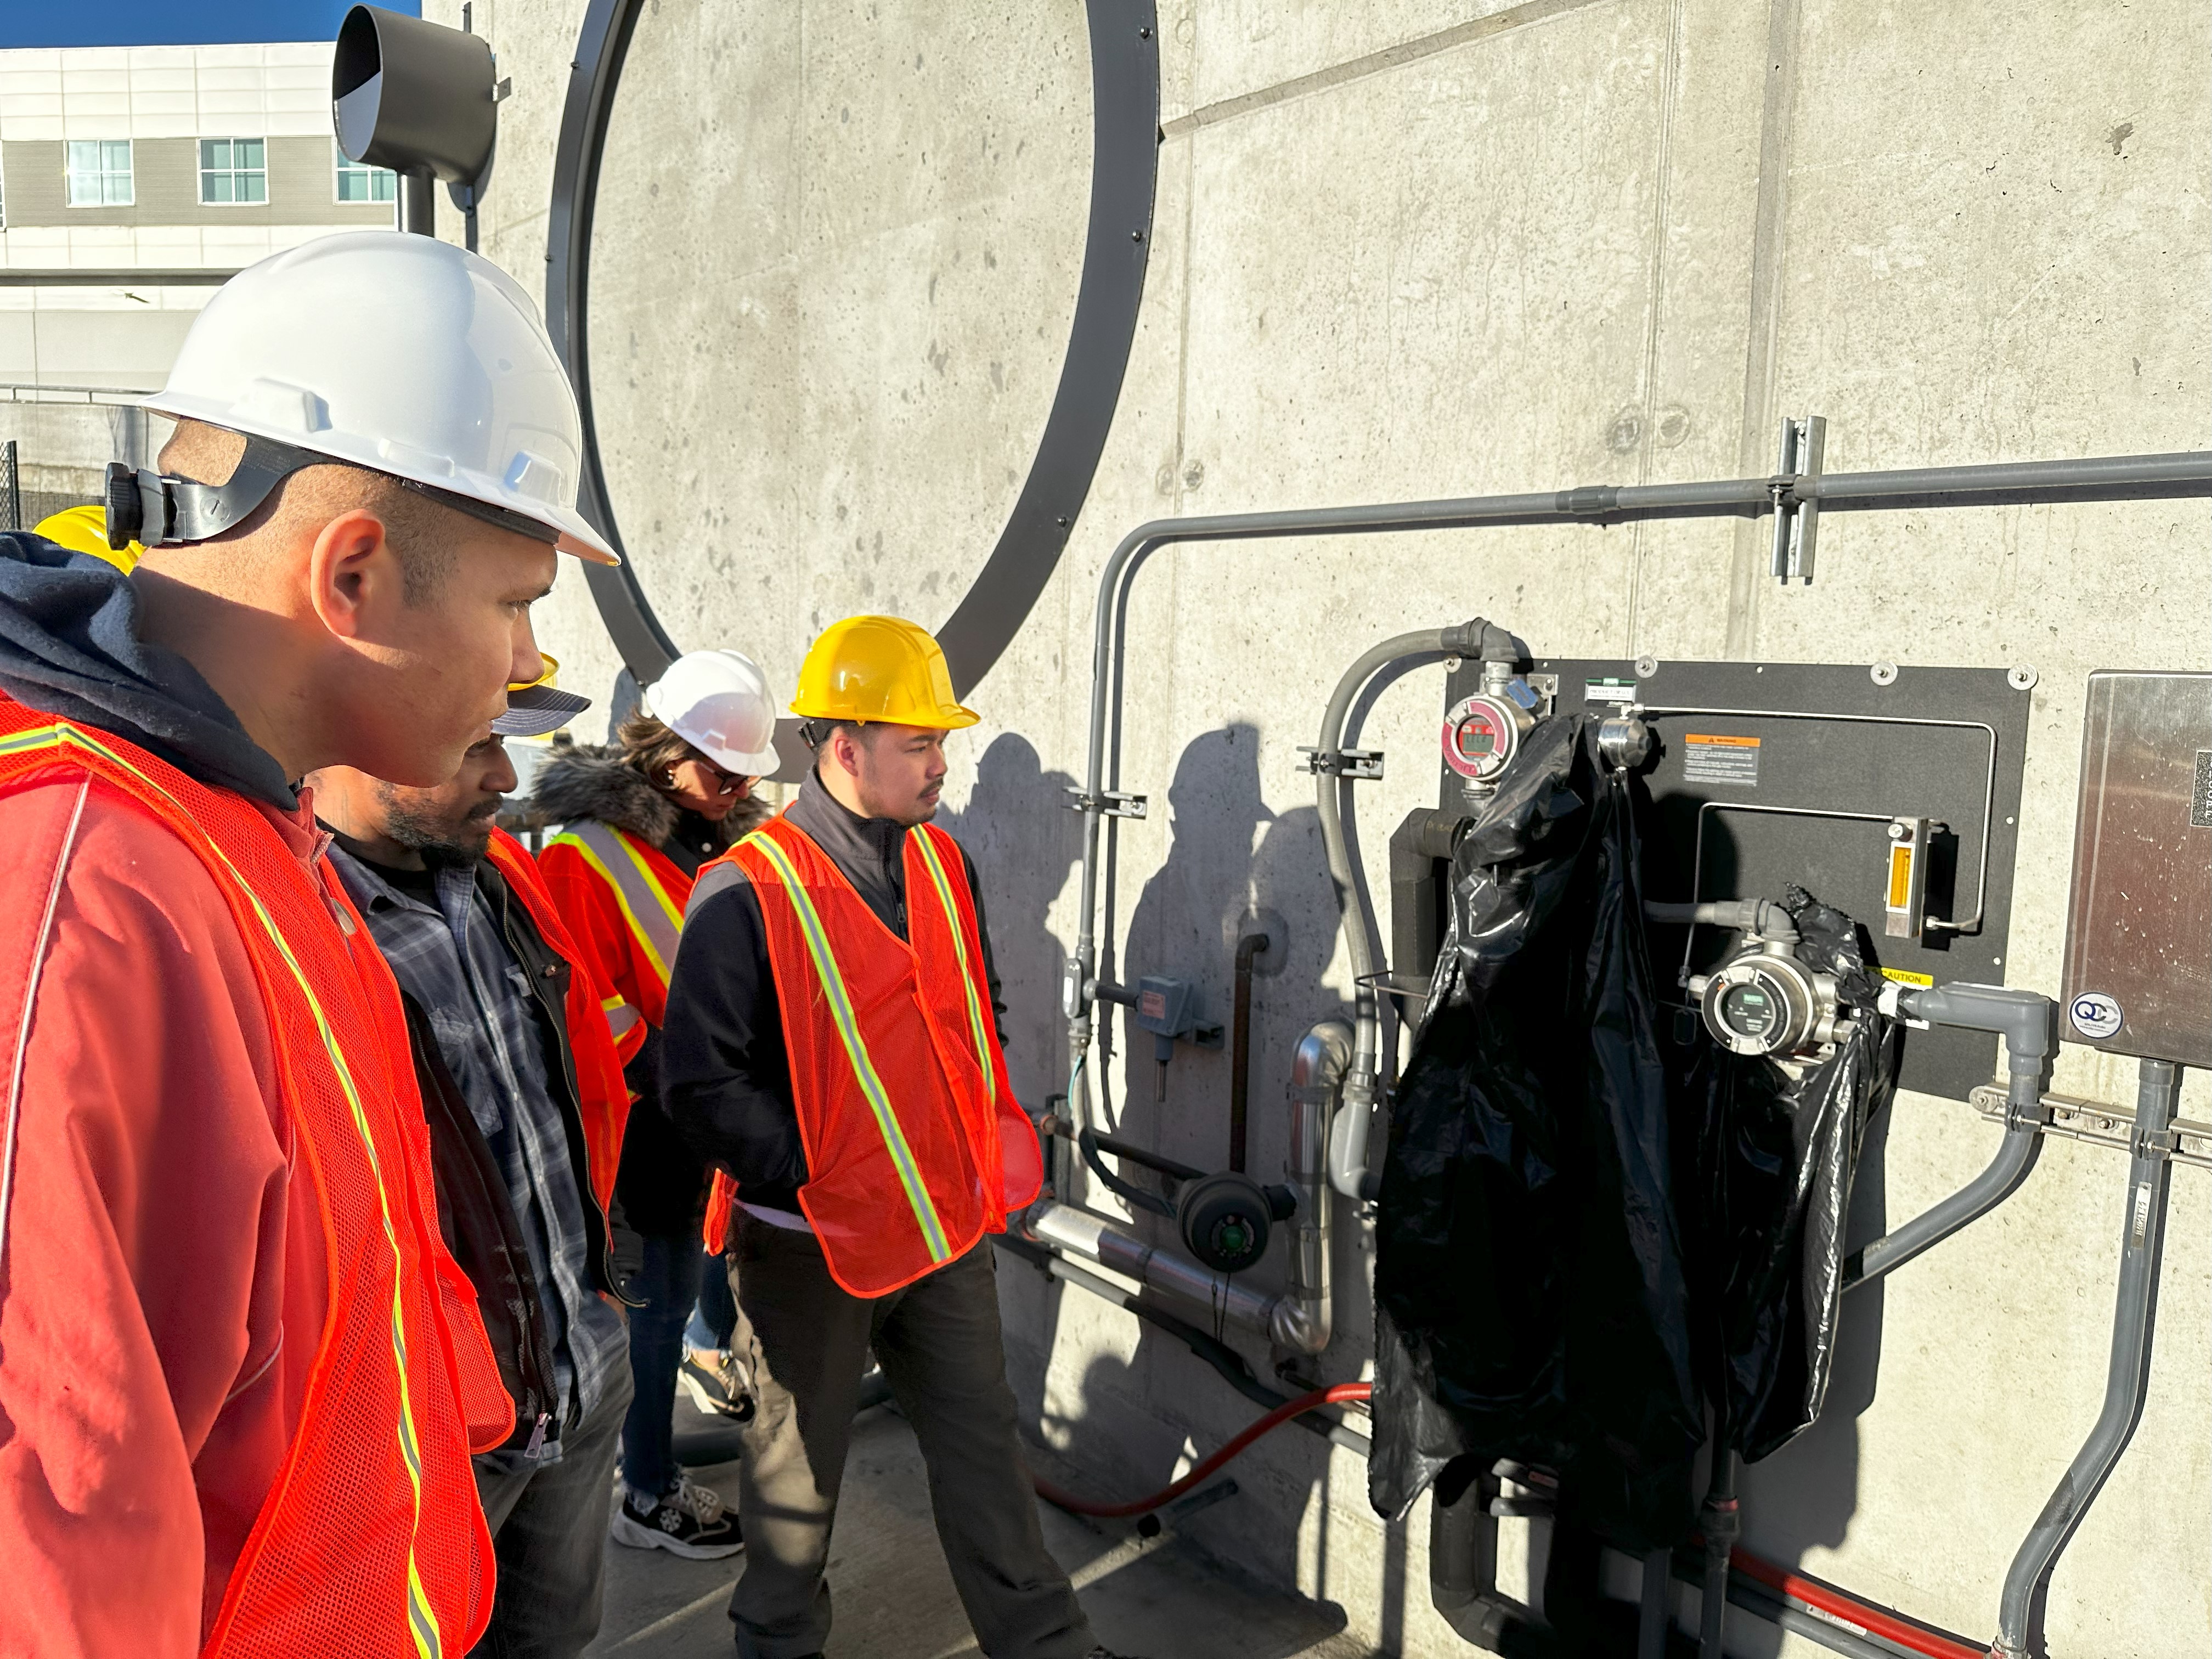
[[[1555,681],[1559,714],[1637,708],[1652,730],[1646,898],[1783,898],[1798,885],[1856,918],[1893,980],[2004,982],[2031,670],[1540,659],[1540,677]],[[1480,664],[1462,664],[1444,708],[1480,679]],[[1462,783],[1447,757],[1447,812],[1471,810]],[[1741,936],[1657,922],[1648,936],[1661,995],[1697,1020],[1690,975],[1721,967]],[[1966,1099],[1995,1068],[1989,1033],[1913,1031],[1898,1082]]]

